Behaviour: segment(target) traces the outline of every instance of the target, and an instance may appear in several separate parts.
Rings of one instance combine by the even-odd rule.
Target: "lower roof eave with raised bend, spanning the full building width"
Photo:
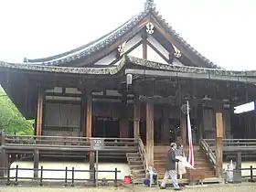
[[[138,59],[131,56],[123,56],[122,61],[114,67],[106,68],[76,68],[76,67],[60,67],[60,66],[41,66],[31,64],[14,64],[0,61],[0,68],[2,69],[18,69],[29,70],[37,72],[57,72],[62,74],[81,74],[81,75],[116,75],[121,72],[122,69],[126,69],[127,65],[136,65],[145,69],[156,69],[162,71],[176,72],[176,77],[179,73],[188,74],[187,78],[195,79],[211,79],[211,80],[230,80],[230,81],[242,81],[242,82],[254,82],[256,83],[256,70],[225,70],[225,69],[207,69],[197,67],[187,67],[178,65],[166,65],[163,63],[157,63],[149,60]],[[131,68],[128,68],[131,69]],[[132,69],[133,70],[133,69]],[[189,75],[190,74],[190,75]],[[192,75],[191,75],[192,74]],[[193,76],[197,74],[198,77]],[[146,74],[142,74],[146,75]],[[201,77],[203,76],[203,78]]]

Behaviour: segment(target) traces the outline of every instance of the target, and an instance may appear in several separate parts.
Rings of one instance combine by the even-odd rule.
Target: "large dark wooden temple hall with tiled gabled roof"
[[[226,140],[256,136],[255,114],[234,113],[235,106],[254,101],[256,71],[230,71],[206,59],[166,23],[153,0],[80,48],[21,63],[1,61],[0,83],[18,110],[35,119],[37,138],[133,141],[144,168],[155,165],[160,173],[170,142],[187,146],[187,101],[196,167],[204,166],[208,176],[221,175]],[[19,153],[22,144],[11,148],[7,137],[2,149]],[[126,152],[128,143],[113,146]]]

